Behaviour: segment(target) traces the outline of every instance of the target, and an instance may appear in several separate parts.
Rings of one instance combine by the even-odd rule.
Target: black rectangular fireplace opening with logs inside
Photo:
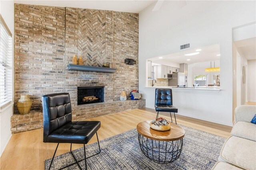
[[[104,86],[77,87],[77,105],[104,102]]]

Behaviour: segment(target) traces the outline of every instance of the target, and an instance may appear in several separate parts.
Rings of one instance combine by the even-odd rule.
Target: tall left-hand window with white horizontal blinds
[[[12,102],[12,34],[0,15],[0,108]]]

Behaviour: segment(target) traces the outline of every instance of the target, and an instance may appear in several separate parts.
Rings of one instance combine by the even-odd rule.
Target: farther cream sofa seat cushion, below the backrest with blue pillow
[[[238,121],[234,124],[231,135],[256,141],[256,124]]]

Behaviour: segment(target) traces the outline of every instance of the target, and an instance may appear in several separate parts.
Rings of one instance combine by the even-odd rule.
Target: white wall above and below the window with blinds
[[[12,33],[12,41],[14,42],[14,1],[1,0],[0,14],[4,18],[6,25]],[[14,45],[14,43],[12,43]],[[12,47],[13,49],[13,47]],[[13,51],[13,50],[12,50]],[[4,151],[12,133],[11,133],[11,116],[13,114],[13,104],[5,107],[0,111],[0,155]]]

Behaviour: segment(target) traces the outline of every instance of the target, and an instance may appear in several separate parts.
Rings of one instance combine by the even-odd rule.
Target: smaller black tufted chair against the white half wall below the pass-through
[[[178,113],[178,108],[172,105],[172,89],[156,88],[155,99],[155,109],[157,111],[156,119],[158,118],[159,111],[170,112],[171,119],[172,113],[174,113],[175,123],[177,124],[175,113]]]

